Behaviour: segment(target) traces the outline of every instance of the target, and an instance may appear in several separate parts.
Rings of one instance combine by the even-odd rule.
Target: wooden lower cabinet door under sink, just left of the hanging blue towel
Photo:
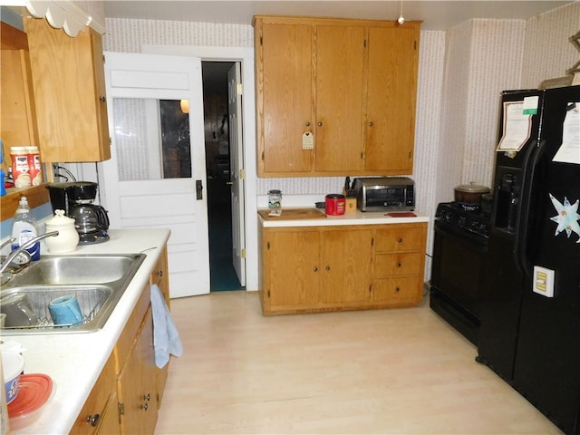
[[[150,309],[119,376],[119,401],[122,409],[121,433],[153,433],[158,406]]]

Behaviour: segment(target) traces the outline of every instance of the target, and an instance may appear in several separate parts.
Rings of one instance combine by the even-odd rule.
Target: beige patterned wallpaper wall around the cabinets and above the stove
[[[104,48],[114,52],[140,53],[143,44],[253,46],[251,25],[107,19],[106,27]],[[420,33],[412,177],[421,213],[433,217],[459,184],[491,185],[500,92],[564,75],[577,61],[567,38],[578,30],[580,2],[527,21],[474,19],[448,32]],[[248,194],[324,195],[342,186],[337,177],[256,179],[256,191]],[[431,245],[432,231],[429,253]]]

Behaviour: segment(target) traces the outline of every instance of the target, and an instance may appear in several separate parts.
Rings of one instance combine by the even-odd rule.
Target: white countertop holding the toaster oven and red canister
[[[429,217],[413,211],[415,217],[389,216],[386,212],[362,212],[344,213],[342,216],[326,216],[326,218],[314,219],[264,219],[259,218],[263,227],[332,227],[336,225],[381,225],[381,224],[411,224],[429,222]],[[284,217],[284,208],[282,208]]]

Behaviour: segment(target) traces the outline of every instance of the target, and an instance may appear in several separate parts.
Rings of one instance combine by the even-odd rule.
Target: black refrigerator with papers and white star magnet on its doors
[[[477,361],[580,434],[580,86],[501,107]]]

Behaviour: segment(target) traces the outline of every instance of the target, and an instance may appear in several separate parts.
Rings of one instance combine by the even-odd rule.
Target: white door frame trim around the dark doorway
[[[143,44],[141,53],[195,56],[202,62],[239,62],[242,68],[242,142],[246,179],[244,221],[246,232],[246,290],[258,289],[256,198],[256,84],[253,47]]]

